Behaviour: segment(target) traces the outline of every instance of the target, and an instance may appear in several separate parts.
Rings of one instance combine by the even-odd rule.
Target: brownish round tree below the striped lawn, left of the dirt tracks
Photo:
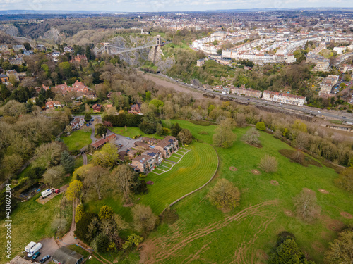
[[[133,215],[133,225],[138,232],[148,232],[155,228],[157,216],[152,213],[150,206],[136,204],[131,209]]]

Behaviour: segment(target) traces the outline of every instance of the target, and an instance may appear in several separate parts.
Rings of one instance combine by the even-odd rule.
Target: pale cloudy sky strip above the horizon
[[[0,10],[64,11],[205,11],[248,8],[342,7],[353,8],[352,0],[1,0]]]

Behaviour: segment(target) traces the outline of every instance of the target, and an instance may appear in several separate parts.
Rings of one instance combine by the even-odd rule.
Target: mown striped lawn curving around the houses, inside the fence
[[[138,203],[150,206],[153,212],[158,215],[169,203],[201,187],[210,180],[217,168],[215,150],[212,146],[201,143],[191,144],[189,148],[191,151],[169,172],[162,175],[152,172],[148,174],[145,181],[152,181],[154,184],[148,185],[148,194],[139,196],[140,201]],[[122,207],[120,199],[115,196],[85,204],[86,209],[96,213],[103,205],[112,206],[116,213],[123,215],[128,221],[132,220],[130,208]]]

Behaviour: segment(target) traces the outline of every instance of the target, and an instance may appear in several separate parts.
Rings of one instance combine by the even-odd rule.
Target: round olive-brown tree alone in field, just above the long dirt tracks
[[[239,206],[240,191],[229,180],[220,179],[208,192],[208,199],[217,209],[231,210]]]

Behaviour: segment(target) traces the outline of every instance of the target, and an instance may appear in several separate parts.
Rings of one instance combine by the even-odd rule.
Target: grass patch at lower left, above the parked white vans
[[[40,194],[29,201],[19,203],[18,207],[11,212],[11,258],[24,251],[30,241],[39,242],[45,237],[54,236],[52,221],[59,214],[62,194],[55,196],[44,205],[35,201],[38,196]],[[4,220],[2,222],[4,223]],[[5,235],[3,224],[0,227],[0,232]],[[0,239],[1,249],[5,248],[6,240],[5,237]],[[0,258],[5,261],[4,251],[1,251]]]

